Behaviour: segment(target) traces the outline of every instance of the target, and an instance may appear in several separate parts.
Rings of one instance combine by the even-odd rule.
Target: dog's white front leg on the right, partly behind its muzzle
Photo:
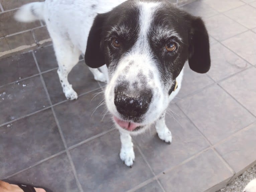
[[[171,131],[167,128],[165,124],[165,113],[156,121],[155,129],[157,131],[158,137],[165,141],[166,143],[171,144],[172,136]]]

